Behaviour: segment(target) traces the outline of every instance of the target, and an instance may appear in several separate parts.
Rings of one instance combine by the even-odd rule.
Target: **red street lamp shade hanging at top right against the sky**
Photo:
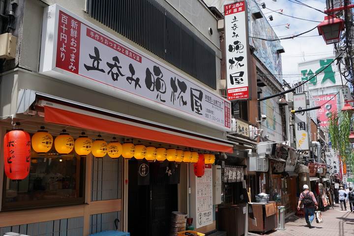
[[[317,26],[326,44],[339,42],[341,31],[344,30],[344,20],[335,16],[325,16],[324,21]]]

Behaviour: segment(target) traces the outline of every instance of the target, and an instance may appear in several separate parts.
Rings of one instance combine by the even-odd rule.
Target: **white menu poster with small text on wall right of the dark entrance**
[[[196,177],[196,228],[213,223],[212,169],[206,165],[203,177]]]

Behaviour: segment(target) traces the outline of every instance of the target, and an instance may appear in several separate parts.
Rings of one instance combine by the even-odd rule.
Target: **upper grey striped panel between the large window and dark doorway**
[[[122,158],[92,158],[91,201],[121,198]]]

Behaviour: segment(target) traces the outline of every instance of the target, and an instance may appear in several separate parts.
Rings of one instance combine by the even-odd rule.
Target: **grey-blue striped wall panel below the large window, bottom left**
[[[83,236],[84,217],[51,220],[0,228],[0,236],[8,232],[29,236]]]

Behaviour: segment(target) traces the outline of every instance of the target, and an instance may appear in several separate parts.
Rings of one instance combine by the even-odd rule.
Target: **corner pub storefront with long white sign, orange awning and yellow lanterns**
[[[41,153],[32,139],[29,175],[21,181],[8,177],[12,163],[4,153],[11,144],[3,145],[0,234],[117,229],[165,236],[172,211],[192,217],[199,232],[215,230],[215,167],[198,178],[194,163],[211,164],[234,149],[225,135],[231,104],[217,90],[218,36],[202,30],[216,27],[216,18],[202,3],[205,25],[192,26],[196,19],[188,22],[168,1],[43,2],[19,8],[21,50],[18,66],[1,75],[0,137],[4,144],[19,128],[32,139],[44,126],[53,143]],[[141,15],[113,14],[128,8]],[[88,153],[76,147],[83,138],[93,142]]]

